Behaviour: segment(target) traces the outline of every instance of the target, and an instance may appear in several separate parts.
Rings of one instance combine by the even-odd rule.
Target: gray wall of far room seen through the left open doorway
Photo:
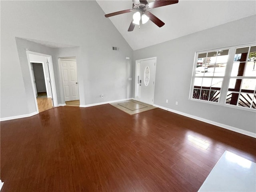
[[[34,77],[36,81],[37,92],[46,92],[43,64],[33,63]]]

